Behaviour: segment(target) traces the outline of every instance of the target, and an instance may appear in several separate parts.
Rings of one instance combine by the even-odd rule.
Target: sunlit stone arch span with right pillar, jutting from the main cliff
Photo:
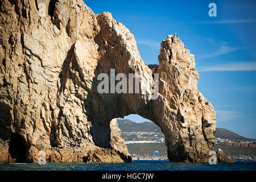
[[[97,21],[101,27],[100,42],[104,44],[110,63],[105,67],[106,73],[109,74],[110,68],[115,68],[117,73],[159,73],[160,77],[157,100],[150,100],[147,94],[141,93],[101,94],[98,98],[111,103],[106,107],[117,106],[111,111],[106,109],[106,113],[105,109],[100,109],[101,114],[104,117],[109,115],[109,120],[139,114],[153,121],[166,138],[168,158],[171,161],[208,160],[208,152],[214,147],[216,118],[212,105],[197,92],[199,76],[195,69],[194,56],[185,49],[176,35],[168,36],[161,44],[160,65],[150,66],[151,70],[141,60],[129,30],[115,22],[109,13],[97,15]],[[105,60],[101,62],[100,59],[98,62],[99,73],[104,72],[100,68]],[[96,76],[97,68],[94,69]],[[152,76],[148,76],[148,80],[153,82]],[[92,88],[96,88],[96,85]]]

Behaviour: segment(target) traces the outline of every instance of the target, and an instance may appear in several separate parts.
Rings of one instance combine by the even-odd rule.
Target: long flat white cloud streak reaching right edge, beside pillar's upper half
[[[207,67],[199,68],[199,72],[224,72],[224,71],[256,71],[256,61],[217,64],[217,65],[209,65]]]

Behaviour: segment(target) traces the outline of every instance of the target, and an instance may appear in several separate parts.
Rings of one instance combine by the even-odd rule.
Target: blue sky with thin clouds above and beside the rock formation
[[[210,17],[209,3],[217,5]],[[198,89],[217,115],[217,127],[256,138],[256,1],[85,1],[129,28],[146,64],[159,64],[160,43],[177,33],[192,54]],[[129,115],[135,122],[146,119]]]

